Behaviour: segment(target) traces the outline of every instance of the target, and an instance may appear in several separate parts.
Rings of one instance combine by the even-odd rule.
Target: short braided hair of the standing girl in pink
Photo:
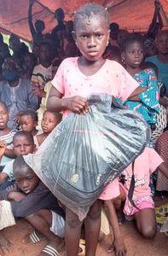
[[[89,19],[90,17],[100,16],[107,23],[107,29],[109,28],[109,15],[106,9],[97,3],[87,3],[84,4],[78,11],[74,14],[73,29],[75,28],[80,20]]]

